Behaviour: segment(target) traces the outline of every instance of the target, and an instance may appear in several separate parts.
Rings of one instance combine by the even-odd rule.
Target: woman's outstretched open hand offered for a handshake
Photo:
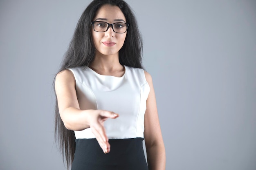
[[[108,137],[104,128],[104,121],[108,118],[115,119],[117,117],[119,117],[117,113],[107,110],[93,110],[91,114],[88,115],[88,123],[92,133],[95,135],[104,153],[110,152],[110,144],[108,143]]]

